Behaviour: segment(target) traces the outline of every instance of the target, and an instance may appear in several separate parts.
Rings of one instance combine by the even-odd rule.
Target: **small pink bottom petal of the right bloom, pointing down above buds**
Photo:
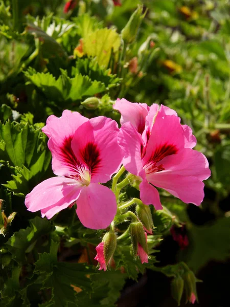
[[[163,209],[157,189],[149,184],[146,179],[140,184],[140,198],[145,205],[153,205],[156,210]]]

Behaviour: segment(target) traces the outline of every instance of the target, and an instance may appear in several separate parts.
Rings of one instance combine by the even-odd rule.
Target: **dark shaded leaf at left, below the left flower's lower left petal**
[[[13,259],[18,263],[24,263],[26,261],[26,253],[33,248],[33,244],[41,235],[54,230],[54,227],[47,218],[36,216],[32,220],[29,220],[29,223],[30,227],[15,232],[6,243],[8,250],[12,253]]]

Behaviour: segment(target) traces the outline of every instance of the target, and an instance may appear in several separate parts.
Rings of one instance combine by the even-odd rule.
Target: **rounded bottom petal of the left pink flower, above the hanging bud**
[[[116,212],[116,197],[109,188],[97,183],[82,188],[77,201],[77,215],[85,227],[104,229],[113,221]]]

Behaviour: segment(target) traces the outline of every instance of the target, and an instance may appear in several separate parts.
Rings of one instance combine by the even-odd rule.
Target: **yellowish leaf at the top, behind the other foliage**
[[[121,38],[113,29],[99,29],[84,39],[83,50],[88,56],[96,57],[99,66],[108,67],[111,52],[116,53]]]

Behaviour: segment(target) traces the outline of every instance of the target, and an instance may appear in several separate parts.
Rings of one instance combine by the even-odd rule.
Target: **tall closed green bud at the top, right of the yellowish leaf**
[[[143,11],[143,6],[139,6],[130,17],[125,28],[122,30],[121,32],[122,39],[124,40],[125,43],[132,43],[135,40],[142,19],[145,17],[146,14],[146,13],[142,14],[142,11]]]

